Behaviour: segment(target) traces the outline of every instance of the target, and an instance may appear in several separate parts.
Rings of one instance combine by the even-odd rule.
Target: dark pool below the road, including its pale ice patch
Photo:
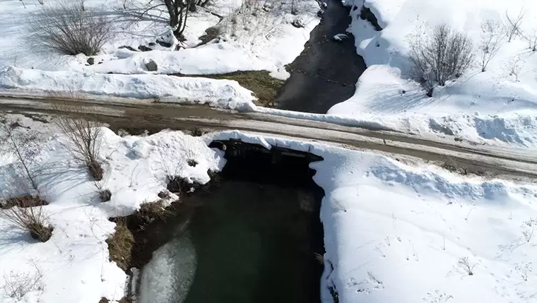
[[[143,268],[138,303],[320,302],[314,159],[259,150],[228,155],[218,186],[184,197],[192,213],[167,222],[175,236]]]

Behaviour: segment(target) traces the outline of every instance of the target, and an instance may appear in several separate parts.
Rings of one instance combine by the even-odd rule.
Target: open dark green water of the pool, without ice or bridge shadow
[[[316,302],[312,194],[228,181],[191,199],[203,206],[189,225],[197,267],[185,302]]]

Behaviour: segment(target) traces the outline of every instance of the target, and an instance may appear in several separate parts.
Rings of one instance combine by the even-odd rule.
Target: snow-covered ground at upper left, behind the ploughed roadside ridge
[[[44,1],[54,6],[61,0]],[[317,1],[294,1],[297,11],[290,13],[291,2],[282,1],[264,6],[264,1],[249,1],[250,8],[242,7],[242,0],[218,0],[206,8],[198,8],[187,21],[181,45],[177,52],[151,46],[151,52],[131,52],[119,49],[138,45],[147,46],[156,37],[169,35],[165,7],[160,6],[139,16],[146,7],[143,0],[85,0],[85,7],[97,8],[113,20],[113,37],[95,56],[95,65],[87,66],[88,57],[76,57],[44,52],[33,45],[33,37],[25,20],[42,7],[37,1],[6,0],[0,3],[0,66],[51,71],[95,71],[98,73],[148,73],[145,64],[155,61],[159,68],[153,73],[208,74],[232,71],[268,70],[285,76],[283,66],[297,57],[309,39],[309,32],[319,23]],[[124,8],[125,4],[125,8]],[[151,6],[151,5],[150,5]],[[136,10],[136,11],[135,11]],[[136,13],[138,15],[136,15]],[[220,18],[211,13],[216,13]],[[256,16],[252,16],[256,14]],[[300,20],[304,25],[295,28],[291,23]],[[196,47],[205,30],[216,27],[219,42]],[[177,40],[174,44],[177,44]],[[98,64],[100,63],[100,64]]]

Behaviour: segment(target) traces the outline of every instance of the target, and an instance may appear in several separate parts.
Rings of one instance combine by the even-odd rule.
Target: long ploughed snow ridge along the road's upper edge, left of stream
[[[209,78],[38,71],[6,66],[0,69],[0,88],[162,98],[162,102],[208,103],[228,109],[251,109],[254,106],[252,92],[242,88],[237,81]]]

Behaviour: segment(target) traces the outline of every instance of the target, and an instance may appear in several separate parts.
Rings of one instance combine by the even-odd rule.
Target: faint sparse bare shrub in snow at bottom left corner
[[[19,302],[28,293],[35,290],[40,290],[39,283],[43,278],[43,275],[39,268],[35,266],[37,272],[31,273],[18,273],[10,271],[4,274],[4,285],[2,289],[4,294],[11,297],[13,301]]]

